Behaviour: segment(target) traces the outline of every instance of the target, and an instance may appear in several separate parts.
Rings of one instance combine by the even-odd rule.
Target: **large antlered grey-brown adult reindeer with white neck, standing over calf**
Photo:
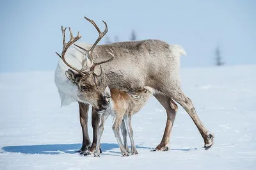
[[[106,100],[102,97],[106,86],[127,93],[145,86],[156,91],[154,97],[166,109],[167,121],[163,139],[155,150],[168,150],[170,134],[178,109],[175,102],[179,103],[194,121],[204,139],[205,150],[210,148],[213,144],[213,135],[209,134],[204,127],[191,100],[184,95],[180,88],[180,56],[186,55],[184,49],[179,45],[168,45],[160,40],[97,45],[100,39],[106,35],[108,26],[103,21],[106,28],[104,32],[100,32],[93,20],[84,18],[95,26],[99,32],[99,38],[93,45],[85,43],[72,45],[81,36],[78,33],[74,38],[72,31],[69,30],[70,41],[66,43],[65,29],[61,27],[63,51],[61,55],[57,53],[61,59],[55,73],[61,105],[75,101],[79,103],[80,123],[83,130],[83,146],[80,151],[93,153],[95,150],[99,126],[99,115],[96,112],[107,107]],[[87,125],[89,104],[93,106],[92,146],[90,146]]]

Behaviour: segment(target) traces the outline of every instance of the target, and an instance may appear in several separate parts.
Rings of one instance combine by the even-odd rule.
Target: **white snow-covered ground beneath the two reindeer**
[[[94,158],[75,153],[82,141],[78,106],[60,107],[54,72],[1,73],[0,169],[256,169],[256,65],[186,68],[181,79],[215,135],[212,148],[202,150],[202,137],[179,107],[171,150],[150,152],[166,123],[163,107],[150,98],[132,120],[139,155],[120,156],[109,118],[103,153]]]

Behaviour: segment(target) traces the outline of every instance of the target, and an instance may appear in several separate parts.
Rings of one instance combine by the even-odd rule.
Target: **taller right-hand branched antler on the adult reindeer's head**
[[[113,54],[113,51],[110,49],[111,52],[108,51],[108,53],[111,54],[112,57],[111,57],[110,59],[106,60],[106,61],[101,61],[101,62],[99,62],[99,63],[94,63],[94,62],[93,62],[93,55],[92,55],[92,54],[93,54],[93,49],[95,48],[95,46],[97,45],[97,43],[99,43],[100,40],[103,38],[103,36],[106,35],[106,33],[108,32],[108,25],[107,25],[106,22],[104,22],[104,20],[102,20],[102,22],[104,22],[104,24],[105,24],[105,30],[104,30],[103,32],[101,32],[100,29],[99,29],[99,27],[97,26],[97,24],[95,24],[95,22],[94,22],[93,20],[90,20],[90,19],[88,19],[87,17],[84,17],[84,19],[88,20],[89,22],[91,22],[91,23],[93,24],[93,26],[97,29],[97,31],[98,31],[98,33],[99,33],[99,37],[97,38],[97,40],[95,41],[95,43],[93,43],[92,48],[91,48],[90,50],[86,50],[86,49],[84,49],[83,47],[80,47],[79,45],[76,45],[76,44],[74,44],[74,45],[76,45],[76,47],[78,47],[79,49],[84,50],[84,52],[86,52],[86,54],[88,54],[88,58],[90,59],[90,61],[91,61],[91,63],[92,63],[92,67],[90,68],[90,70],[93,72],[93,75],[94,75],[95,77],[97,77],[97,78],[99,79],[99,81],[101,81],[102,68],[101,68],[101,66],[100,66],[100,74],[97,75],[96,73],[94,73],[95,66],[101,65],[101,64],[103,64],[103,63],[107,63],[107,62],[109,62],[109,61],[112,61],[112,60],[114,59],[114,54]]]

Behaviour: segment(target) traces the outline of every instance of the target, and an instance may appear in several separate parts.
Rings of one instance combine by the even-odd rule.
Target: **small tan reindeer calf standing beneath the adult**
[[[95,157],[99,157],[100,154],[100,138],[104,130],[104,123],[108,116],[111,114],[114,116],[113,122],[113,132],[116,137],[116,141],[120,147],[123,156],[129,156],[129,147],[127,144],[127,132],[131,140],[131,154],[138,154],[136,150],[133,130],[131,125],[132,114],[140,111],[143,105],[146,104],[148,98],[153,94],[152,88],[142,88],[134,93],[127,94],[118,89],[109,89],[108,87],[104,91],[104,98],[106,98],[109,103],[108,109],[106,111],[98,112],[100,116],[100,125],[97,137],[97,146],[94,153]],[[119,130],[122,130],[122,135],[124,139],[124,144],[121,141]]]

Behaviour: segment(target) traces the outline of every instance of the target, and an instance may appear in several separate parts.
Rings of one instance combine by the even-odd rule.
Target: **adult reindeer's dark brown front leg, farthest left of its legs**
[[[89,110],[89,105],[88,104],[83,104],[78,102],[79,104],[79,115],[80,115],[80,124],[82,127],[82,132],[83,132],[83,144],[80,150],[77,152],[84,152],[88,150],[88,148],[91,146],[91,141],[89,138],[88,134],[88,110]]]

